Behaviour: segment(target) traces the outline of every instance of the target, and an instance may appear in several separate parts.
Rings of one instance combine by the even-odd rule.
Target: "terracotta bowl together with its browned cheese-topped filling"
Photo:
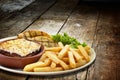
[[[36,62],[44,51],[44,46],[24,38],[14,38],[0,42],[0,65],[23,68]]]

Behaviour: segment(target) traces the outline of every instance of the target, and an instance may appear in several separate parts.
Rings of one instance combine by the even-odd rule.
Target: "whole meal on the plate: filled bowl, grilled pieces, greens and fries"
[[[49,35],[29,30],[0,42],[0,65],[22,68],[25,72],[70,70],[91,60],[90,49],[85,42],[80,43],[66,33]]]

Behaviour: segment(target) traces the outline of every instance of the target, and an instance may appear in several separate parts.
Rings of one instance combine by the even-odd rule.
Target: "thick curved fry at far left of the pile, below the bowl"
[[[24,67],[23,71],[31,72],[36,67],[45,67],[45,66],[47,66],[47,64],[45,64],[44,62],[39,61],[39,62],[36,62],[36,63],[26,65]]]

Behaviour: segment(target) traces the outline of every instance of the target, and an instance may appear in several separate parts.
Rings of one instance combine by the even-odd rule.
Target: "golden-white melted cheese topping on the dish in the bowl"
[[[26,56],[39,50],[40,44],[25,39],[15,39],[6,41],[0,44],[0,49],[12,53],[16,53],[20,56]]]

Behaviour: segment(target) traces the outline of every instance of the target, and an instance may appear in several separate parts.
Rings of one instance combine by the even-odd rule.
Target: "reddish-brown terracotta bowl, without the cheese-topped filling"
[[[40,52],[33,56],[26,57],[10,57],[0,54],[0,65],[9,68],[24,68],[25,65],[36,62],[44,52],[44,46],[41,46]]]

